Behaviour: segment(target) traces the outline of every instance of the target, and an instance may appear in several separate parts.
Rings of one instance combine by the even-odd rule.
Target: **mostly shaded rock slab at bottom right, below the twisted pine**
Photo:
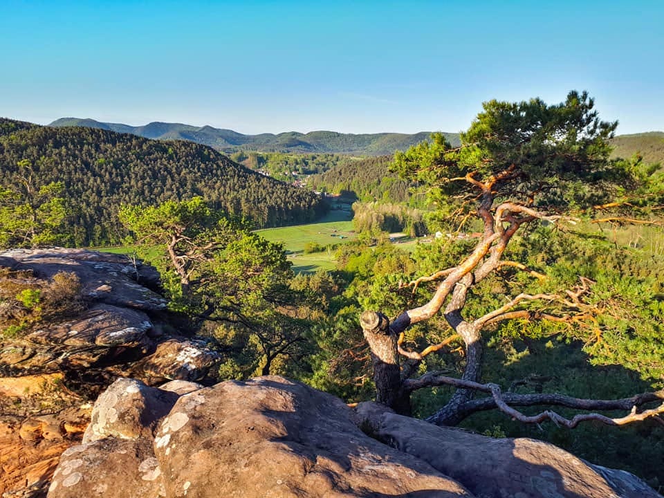
[[[360,403],[358,415],[380,441],[426,461],[478,497],[661,498],[629,472],[591,465],[542,441],[438,427],[376,403]]]

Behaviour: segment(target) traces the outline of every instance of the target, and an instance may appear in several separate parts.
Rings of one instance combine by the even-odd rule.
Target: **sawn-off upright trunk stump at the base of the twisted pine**
[[[371,349],[376,384],[376,403],[387,405],[401,415],[410,415],[410,394],[403,389],[397,337],[382,313],[365,311],[360,316],[362,331]]]

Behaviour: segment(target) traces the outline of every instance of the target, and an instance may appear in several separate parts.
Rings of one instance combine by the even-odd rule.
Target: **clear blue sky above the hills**
[[[664,130],[664,1],[0,1],[0,116],[460,131],[588,90]]]

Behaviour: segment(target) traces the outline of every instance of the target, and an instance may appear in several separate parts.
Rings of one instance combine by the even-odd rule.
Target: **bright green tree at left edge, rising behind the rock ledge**
[[[0,248],[66,243],[62,182],[39,186],[29,160],[20,160],[17,166],[13,185],[0,185]]]

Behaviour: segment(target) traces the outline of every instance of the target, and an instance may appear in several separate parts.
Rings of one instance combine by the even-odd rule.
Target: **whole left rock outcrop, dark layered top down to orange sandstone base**
[[[43,484],[59,454],[82,441],[90,409],[79,407],[118,376],[150,385],[201,380],[218,358],[203,340],[165,333],[174,329],[164,325],[169,322],[167,302],[151,266],[88,250],[0,252],[5,278],[0,286],[10,290],[10,297],[13,286],[48,284],[62,273],[76,275],[80,283],[75,313],[42,320],[21,333],[0,330],[1,496],[46,494]],[[2,306],[0,298],[0,313]],[[132,414],[155,407],[137,406]],[[71,409],[77,411],[75,421]],[[44,425],[46,414],[50,418]]]

